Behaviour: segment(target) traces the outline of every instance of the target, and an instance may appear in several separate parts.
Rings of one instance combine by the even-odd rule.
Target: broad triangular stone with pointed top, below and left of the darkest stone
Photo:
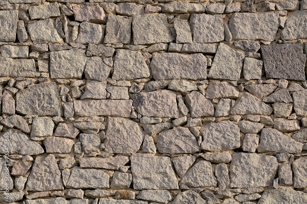
[[[273,108],[263,103],[250,93],[243,93],[242,97],[230,111],[232,115],[271,115]]]

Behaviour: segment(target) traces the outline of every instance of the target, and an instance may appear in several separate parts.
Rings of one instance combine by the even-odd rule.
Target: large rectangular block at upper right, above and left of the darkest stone
[[[233,13],[229,20],[232,40],[274,41],[278,29],[277,13]]]

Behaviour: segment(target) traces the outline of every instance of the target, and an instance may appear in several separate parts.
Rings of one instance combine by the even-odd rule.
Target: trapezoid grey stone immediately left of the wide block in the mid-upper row
[[[117,50],[112,79],[131,80],[149,77],[149,69],[140,52]]]

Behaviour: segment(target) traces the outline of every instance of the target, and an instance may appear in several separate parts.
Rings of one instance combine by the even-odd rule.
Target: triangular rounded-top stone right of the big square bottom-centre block
[[[200,160],[181,179],[180,185],[193,188],[216,187],[217,180],[209,161]]]

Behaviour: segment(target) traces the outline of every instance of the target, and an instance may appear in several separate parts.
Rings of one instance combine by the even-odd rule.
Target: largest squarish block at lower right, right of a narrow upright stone
[[[232,155],[230,163],[230,187],[271,186],[277,171],[277,164],[277,159],[274,156],[235,153]]]

